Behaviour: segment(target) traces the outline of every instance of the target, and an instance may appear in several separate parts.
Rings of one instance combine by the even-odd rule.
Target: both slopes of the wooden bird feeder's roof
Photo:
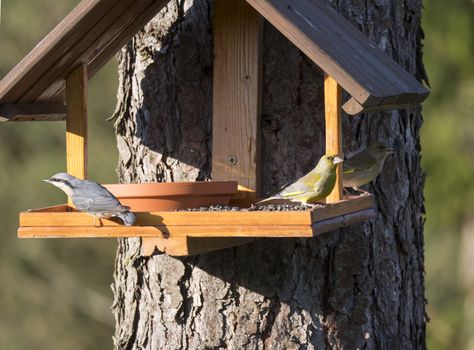
[[[167,0],[83,0],[0,82],[0,120],[63,120],[67,76],[92,77]],[[422,102],[429,90],[322,0],[247,0],[351,95],[348,114]]]

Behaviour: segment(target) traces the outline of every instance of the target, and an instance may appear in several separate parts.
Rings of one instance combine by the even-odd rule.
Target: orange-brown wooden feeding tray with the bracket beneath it
[[[372,202],[370,194],[363,194],[307,210],[135,212],[137,220],[133,226],[123,226],[115,220],[99,221],[68,205],[57,205],[20,213],[18,237],[152,238],[143,247],[144,254],[152,253],[156,246],[169,255],[183,256],[255,238],[310,238],[372,218]],[[213,239],[212,244],[206,244],[207,239]]]

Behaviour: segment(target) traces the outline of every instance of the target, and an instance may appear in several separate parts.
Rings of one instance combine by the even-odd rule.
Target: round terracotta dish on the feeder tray
[[[160,211],[229,204],[237,181],[150,182],[104,185],[132,211]]]

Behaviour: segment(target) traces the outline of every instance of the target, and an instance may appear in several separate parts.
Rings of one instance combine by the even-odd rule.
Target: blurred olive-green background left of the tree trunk
[[[3,0],[3,77],[79,2]],[[89,176],[117,181],[113,123],[117,64],[89,85]],[[65,124],[0,124],[0,349],[110,349],[115,239],[21,240],[18,211],[65,203],[42,181],[64,171]]]

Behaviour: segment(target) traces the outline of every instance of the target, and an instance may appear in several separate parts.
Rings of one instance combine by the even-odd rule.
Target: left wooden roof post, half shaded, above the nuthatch
[[[84,64],[66,79],[66,167],[69,174],[87,178],[87,67]]]

